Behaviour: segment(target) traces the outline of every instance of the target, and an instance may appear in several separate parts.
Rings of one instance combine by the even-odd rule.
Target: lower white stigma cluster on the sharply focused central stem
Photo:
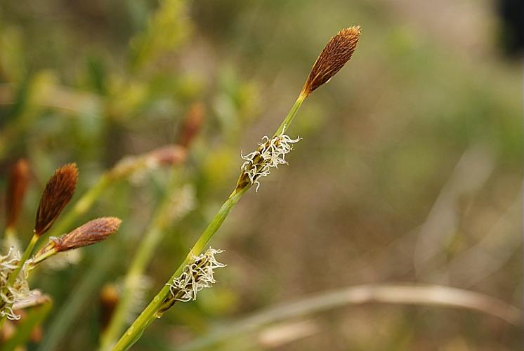
[[[166,284],[169,285],[171,298],[183,302],[196,300],[198,291],[211,287],[216,282],[213,277],[214,269],[226,266],[215,258],[216,253],[222,252],[223,250],[210,247],[199,256],[192,255],[180,277],[173,279],[171,284]]]

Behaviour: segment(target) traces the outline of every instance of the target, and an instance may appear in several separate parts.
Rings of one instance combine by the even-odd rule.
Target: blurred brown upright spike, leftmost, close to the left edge
[[[25,159],[19,159],[11,168],[9,175],[6,194],[6,227],[14,227],[18,221],[29,179],[29,164]]]

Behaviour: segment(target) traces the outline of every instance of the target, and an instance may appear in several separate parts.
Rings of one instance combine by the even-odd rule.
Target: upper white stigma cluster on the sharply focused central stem
[[[240,153],[240,157],[245,161],[240,169],[247,175],[251,184],[256,184],[256,191],[260,187],[258,179],[267,177],[270,173],[270,168],[278,168],[279,164],[287,164],[285,156],[292,152],[292,144],[302,140],[301,137],[296,139],[289,138],[289,135],[284,134],[285,130],[284,126],[282,133],[273,139],[265,135],[261,143],[258,143],[258,150],[245,156]]]

